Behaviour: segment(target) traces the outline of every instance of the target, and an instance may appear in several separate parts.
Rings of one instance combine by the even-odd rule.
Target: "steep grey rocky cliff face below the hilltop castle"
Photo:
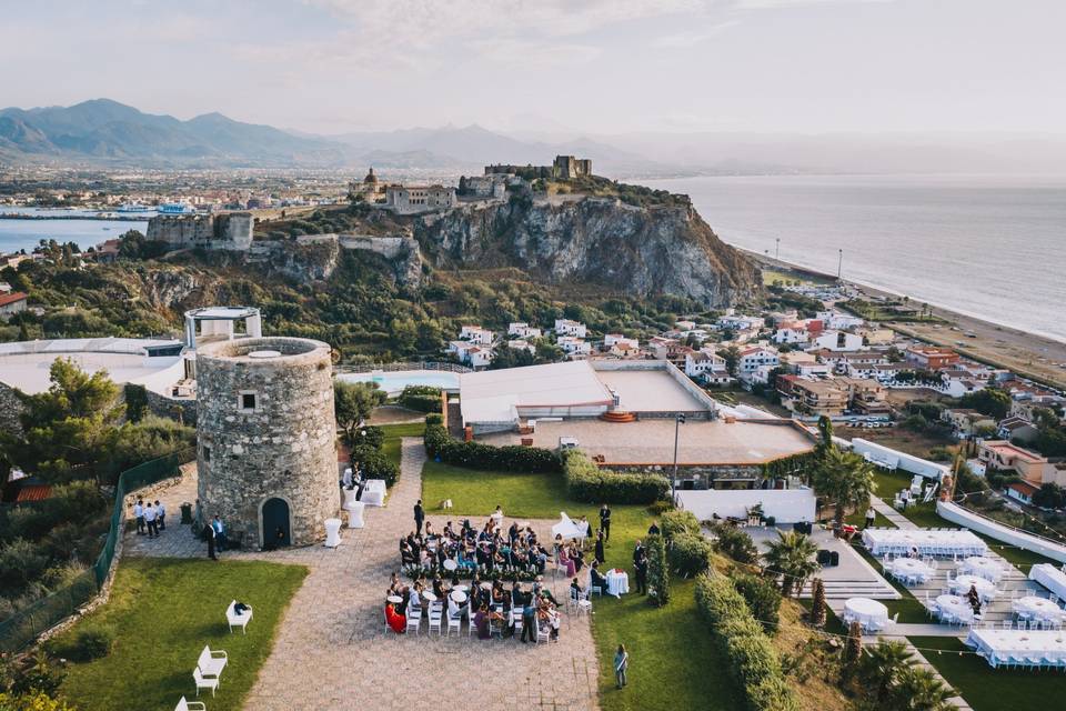
[[[418,221],[435,267],[517,267],[551,283],[597,282],[638,296],[673,294],[726,307],[757,297],[757,267],[684,207],[613,199],[512,200]]]

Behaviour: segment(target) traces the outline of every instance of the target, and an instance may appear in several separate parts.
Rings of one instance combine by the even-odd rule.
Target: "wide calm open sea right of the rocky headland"
[[[1066,340],[1066,176],[651,180],[726,242]]]

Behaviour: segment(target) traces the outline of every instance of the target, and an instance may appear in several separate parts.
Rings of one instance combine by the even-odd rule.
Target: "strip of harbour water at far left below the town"
[[[39,214],[64,219],[11,220],[0,217],[0,254],[24,249],[31,251],[41,240],[53,239],[57,242],[74,242],[86,250],[104,240],[111,240],[128,230],[148,231],[148,218],[153,213],[143,213],[143,220],[89,220],[79,217],[98,214],[94,210],[49,210],[39,208],[13,208],[0,206],[0,213]],[[142,214],[138,213],[138,218]]]

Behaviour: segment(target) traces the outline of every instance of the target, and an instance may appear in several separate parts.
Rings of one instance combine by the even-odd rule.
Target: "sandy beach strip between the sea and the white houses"
[[[836,281],[835,274],[774,259],[735,244],[732,247],[755,260],[761,267]],[[849,279],[842,281],[867,297],[908,296]],[[922,300],[912,300],[923,303]],[[933,328],[931,323],[906,321],[884,321],[884,324],[903,336],[934,346],[952,348],[973,360],[1008,369],[1018,375],[1053,388],[1066,389],[1066,368],[1056,365],[1056,363],[1066,363],[1066,342],[935,303],[929,303],[929,307],[933,316],[946,322],[942,328]],[[951,327],[958,330],[953,331]],[[966,332],[974,333],[975,338],[966,338],[964,336]]]

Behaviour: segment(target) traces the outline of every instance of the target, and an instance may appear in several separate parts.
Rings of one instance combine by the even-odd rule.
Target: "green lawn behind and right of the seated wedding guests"
[[[451,499],[456,517],[487,517],[499,504],[507,517],[559,519],[559,512],[566,511],[572,518],[586,515],[593,525],[600,522],[600,507],[567,499],[559,474],[483,472],[426,462],[422,499],[431,512],[439,512],[439,503]],[[652,517],[638,505],[612,505],[611,511],[606,564],[627,570],[633,587],[633,545],[647,532]],[[635,593],[621,600],[594,598],[601,709],[716,711],[742,705],[711,635],[696,617],[692,585],[691,581],[673,581],[671,602],[663,609],[651,607]],[[620,642],[630,651],[632,663],[628,685],[616,691],[613,663]]]

